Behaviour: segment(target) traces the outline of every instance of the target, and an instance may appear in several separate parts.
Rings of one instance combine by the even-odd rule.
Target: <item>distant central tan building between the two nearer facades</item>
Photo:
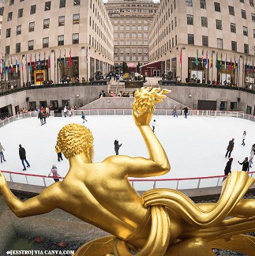
[[[136,68],[148,63],[149,27],[159,3],[152,0],[109,0],[105,3],[114,27],[114,66]]]

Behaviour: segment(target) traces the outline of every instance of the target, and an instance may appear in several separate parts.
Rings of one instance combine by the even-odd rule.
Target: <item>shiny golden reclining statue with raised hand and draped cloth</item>
[[[58,145],[69,160],[62,182],[20,201],[0,172],[0,192],[19,217],[62,209],[112,235],[86,243],[81,255],[214,255],[212,248],[254,254],[255,239],[242,235],[255,230],[255,201],[241,200],[253,178],[233,171],[223,182],[215,203],[195,204],[178,190],[148,190],[140,197],[128,177],[151,177],[170,171],[166,152],[149,123],[155,103],[167,90],[135,92],[133,119],[147,145],[149,159],[109,156],[92,163],[93,137],[86,127],[69,124],[58,134]]]

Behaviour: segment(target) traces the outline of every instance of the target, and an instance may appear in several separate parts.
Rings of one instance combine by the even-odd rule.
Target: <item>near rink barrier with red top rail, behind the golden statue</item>
[[[36,186],[50,186],[54,183],[54,178],[64,179],[64,177],[53,177],[46,175],[33,175],[23,172],[2,171],[6,180],[13,183],[24,183]],[[255,171],[250,171],[252,177]],[[171,188],[175,190],[198,189],[203,187],[221,186],[223,177],[226,175],[215,175],[206,177],[192,177],[179,179],[129,179],[129,182],[136,190],[148,190],[155,188]]]

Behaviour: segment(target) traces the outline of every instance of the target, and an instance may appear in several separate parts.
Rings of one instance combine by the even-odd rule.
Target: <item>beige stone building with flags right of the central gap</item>
[[[253,0],[162,0],[149,32],[149,60],[179,80],[254,86]]]

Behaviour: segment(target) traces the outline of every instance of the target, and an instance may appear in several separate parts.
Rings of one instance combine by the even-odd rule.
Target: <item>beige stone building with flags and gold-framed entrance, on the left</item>
[[[2,80],[88,81],[113,66],[113,26],[102,0],[6,0]]]

